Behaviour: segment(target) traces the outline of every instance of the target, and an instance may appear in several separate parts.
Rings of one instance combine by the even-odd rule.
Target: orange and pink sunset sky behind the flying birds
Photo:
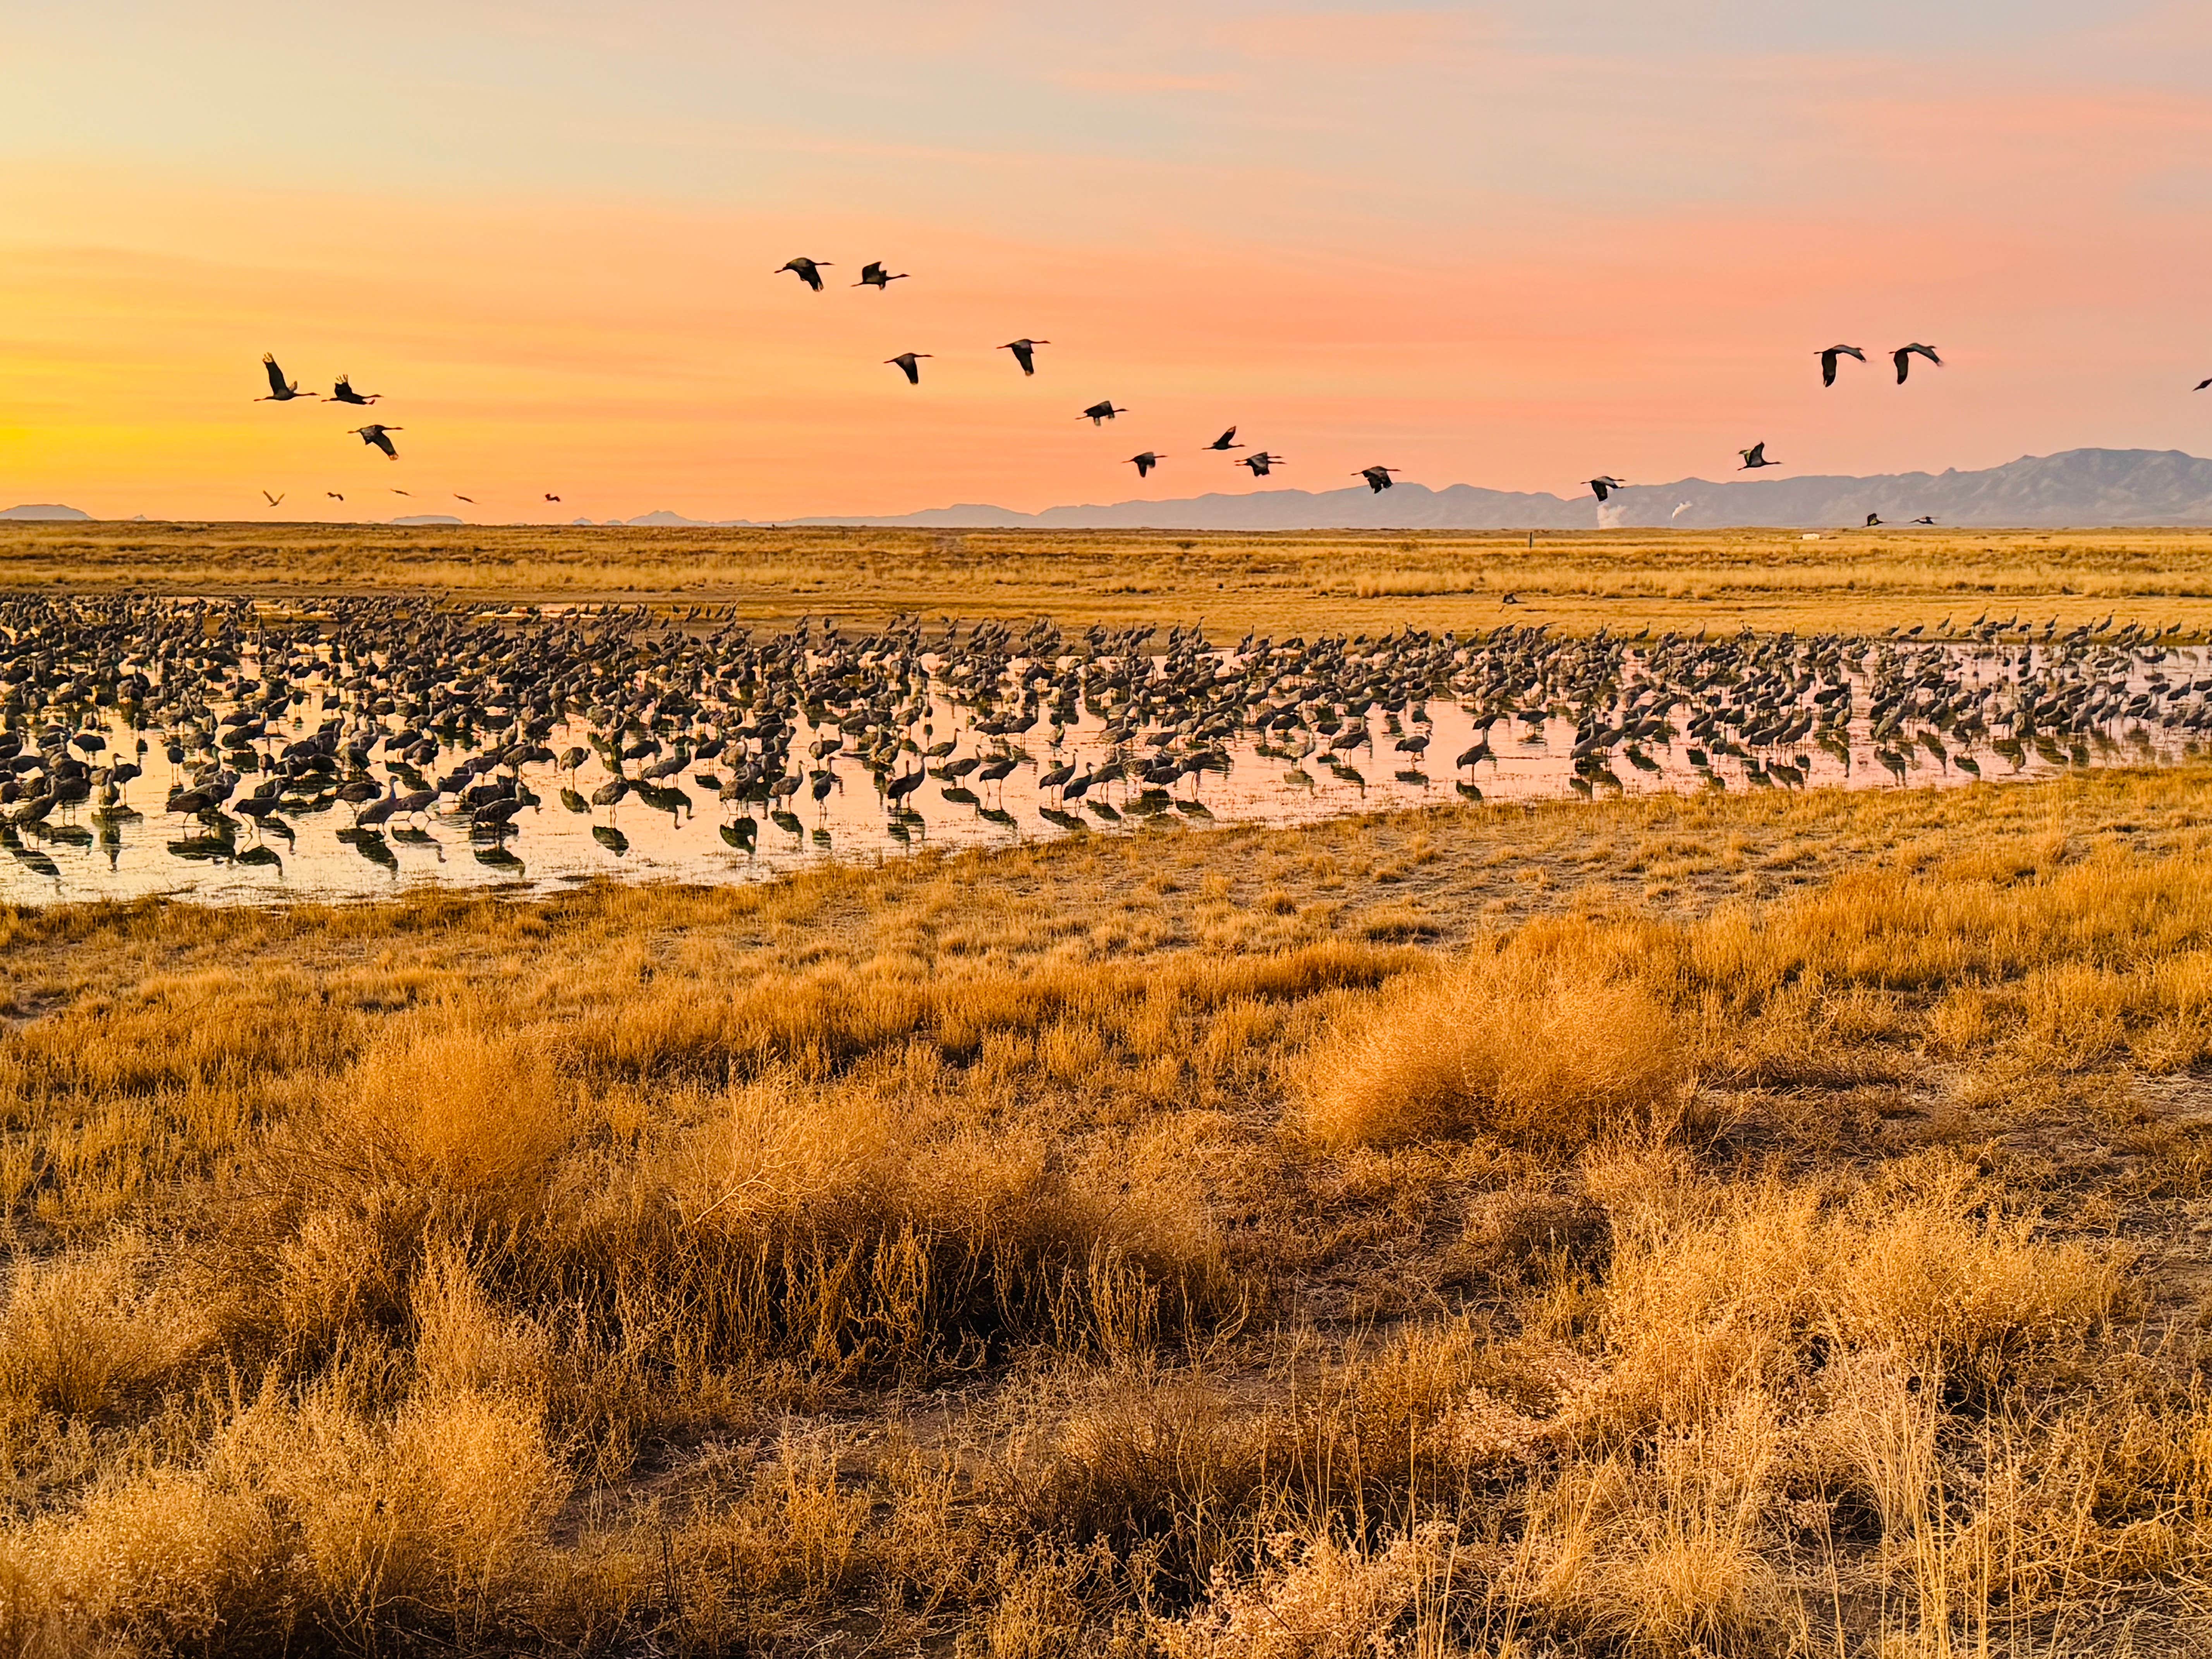
[[[1035,509],[1252,489],[1232,422],[1305,489],[2212,453],[2201,4],[11,0],[0,64],[0,507]]]

